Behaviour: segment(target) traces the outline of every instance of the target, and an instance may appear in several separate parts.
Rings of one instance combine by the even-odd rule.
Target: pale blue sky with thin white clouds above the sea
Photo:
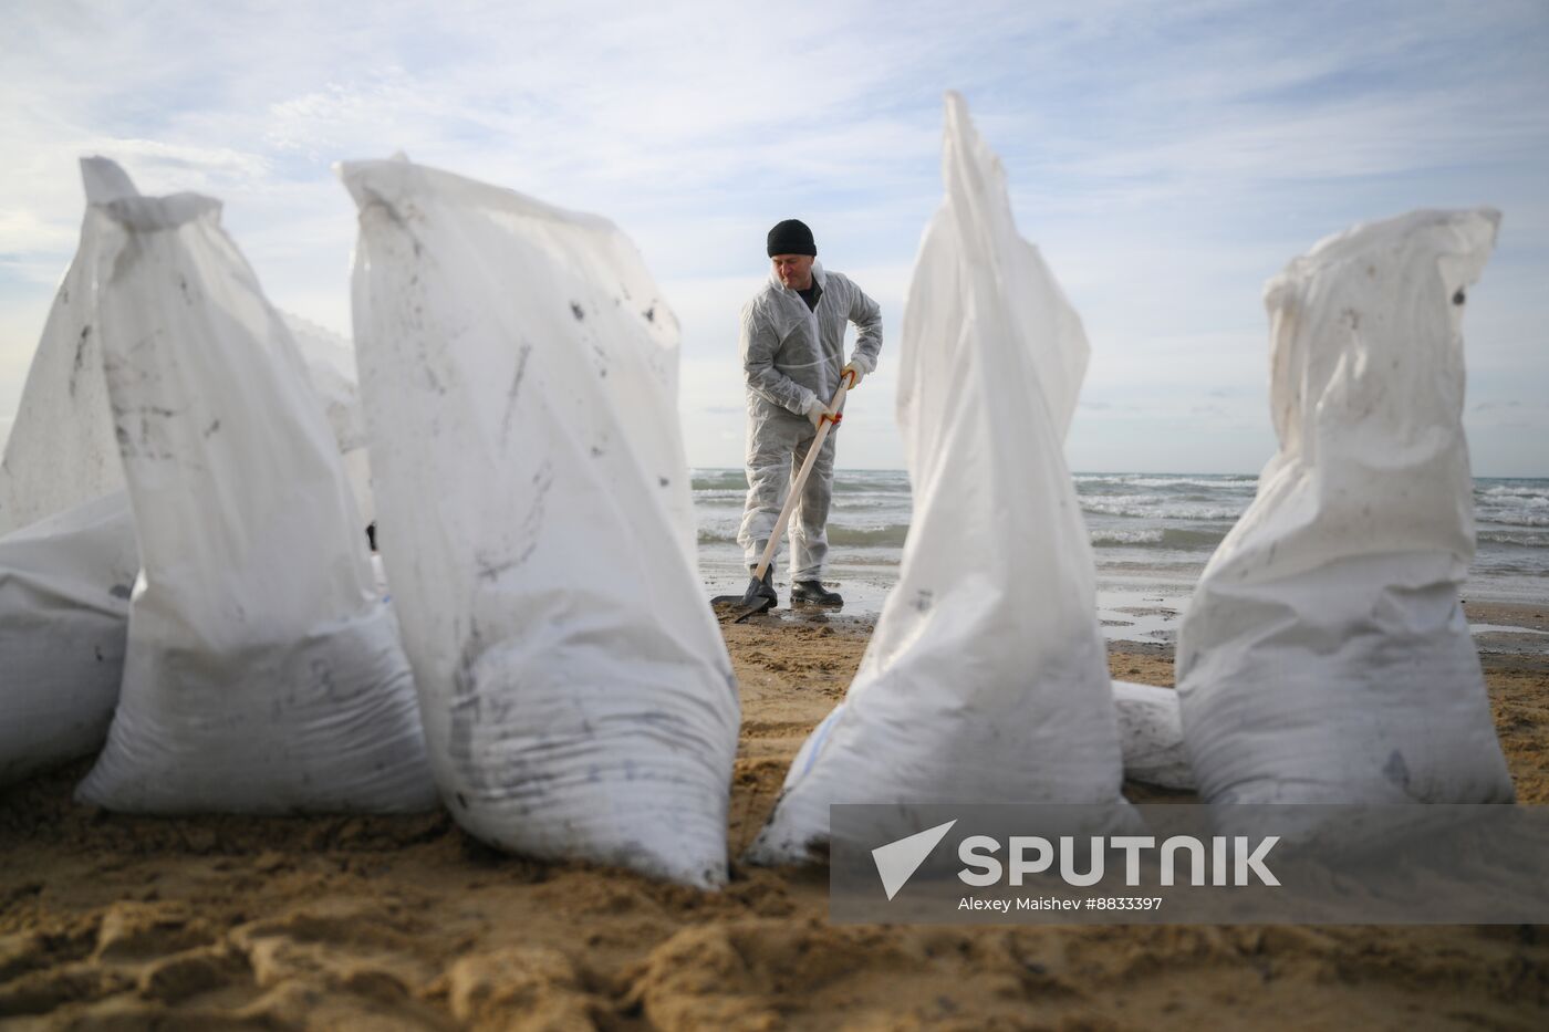
[[[220,197],[271,301],[347,335],[330,166],[403,149],[620,223],[683,322],[689,460],[740,465],[765,231],[812,225],[895,346],[953,88],[1092,341],[1072,468],[1256,471],[1264,280],[1355,222],[1492,205],[1475,471],[1549,476],[1546,0],[0,0],[0,435],[74,249],[77,157]],[[902,465],[886,347],[841,465]]]

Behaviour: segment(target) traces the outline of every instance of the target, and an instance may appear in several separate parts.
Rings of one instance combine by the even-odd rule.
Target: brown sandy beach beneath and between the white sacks
[[[1468,604],[1549,631],[1549,607]],[[726,626],[730,841],[843,696],[871,618]],[[1496,640],[1498,638],[1498,640]],[[1524,803],[1549,803],[1549,660],[1478,638]],[[1492,642],[1495,645],[1492,645]],[[1171,646],[1111,645],[1173,683]],[[1541,1029],[1543,927],[832,927],[823,868],[717,894],[496,854],[445,814],[158,820],[0,793],[6,1029]],[[1152,795],[1129,786],[1131,798]]]

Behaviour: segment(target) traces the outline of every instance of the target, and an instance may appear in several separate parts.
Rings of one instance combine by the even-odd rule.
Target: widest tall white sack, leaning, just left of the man
[[[403,160],[341,175],[380,545],[448,806],[499,848],[719,885],[739,703],[672,313],[604,218]]]

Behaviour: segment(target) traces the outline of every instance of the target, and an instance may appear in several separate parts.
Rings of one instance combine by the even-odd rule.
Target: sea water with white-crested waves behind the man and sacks
[[[1098,617],[1111,638],[1169,643],[1210,555],[1258,490],[1252,474],[1077,473],[1075,488],[1097,559]],[[694,470],[700,570],[713,593],[737,593],[748,575],[737,525],[742,470]],[[1464,598],[1549,604],[1549,479],[1478,477],[1478,552]],[[898,580],[909,533],[909,477],[898,470],[836,470],[826,580],[844,612],[875,615]],[[788,553],[776,583],[782,604]]]

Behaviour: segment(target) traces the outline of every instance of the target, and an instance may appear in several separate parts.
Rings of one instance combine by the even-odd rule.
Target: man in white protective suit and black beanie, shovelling
[[[787,218],[768,234],[773,268],[764,288],[742,308],[742,370],[748,395],[748,501],[737,531],[748,567],[756,569],[774,531],[796,470],[824,418],[836,420],[829,401],[840,380],[853,390],[877,367],[881,308],[860,287],[816,262],[812,229]],[[844,361],[844,324],[857,329],[855,350]],[[823,587],[829,556],[829,501],[833,496],[833,439],[802,488],[792,519],[792,604],[843,606]],[[776,545],[778,547],[778,545]],[[778,603],[774,564],[759,593]]]

